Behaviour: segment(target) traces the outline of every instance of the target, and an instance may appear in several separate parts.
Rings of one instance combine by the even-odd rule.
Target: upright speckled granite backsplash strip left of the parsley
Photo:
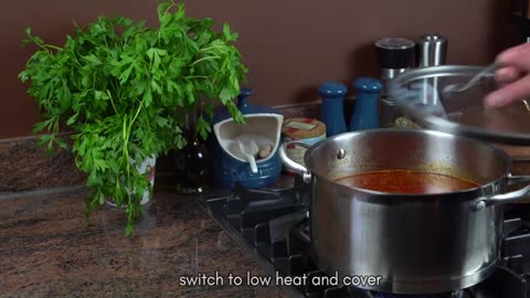
[[[36,137],[0,141],[0,194],[85,183],[72,153],[47,157],[36,142]]]

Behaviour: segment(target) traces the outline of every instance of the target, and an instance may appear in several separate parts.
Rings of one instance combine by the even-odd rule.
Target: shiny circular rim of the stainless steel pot
[[[448,134],[448,132],[442,132],[442,131],[436,131],[436,130],[432,130],[432,129],[411,129],[411,128],[404,128],[404,129],[395,129],[395,128],[375,128],[375,129],[367,129],[367,130],[359,130],[359,131],[349,131],[349,132],[343,132],[343,134],[340,134],[340,135],[336,135],[336,136],[332,136],[332,137],[329,137],[327,139],[324,139],[317,143],[315,143],[314,146],[311,146],[305,153],[304,156],[304,162],[305,164],[309,164],[309,156],[311,156],[311,153],[317,150],[318,148],[320,148],[321,146],[325,146],[326,143],[329,143],[329,142],[333,142],[335,140],[338,140],[338,139],[341,139],[341,138],[344,138],[344,136],[351,136],[351,135],[369,135],[369,134],[414,134],[414,135],[434,135],[434,136],[439,136],[439,137],[445,137],[445,138],[454,138],[454,139],[460,139],[463,141],[469,141],[469,142],[473,142],[475,143],[476,146],[481,146],[481,147],[486,147],[488,148],[489,150],[492,150],[495,155],[498,155],[499,158],[502,158],[502,162],[505,162],[507,164],[502,175],[499,175],[497,179],[494,179],[487,183],[481,183],[479,184],[478,187],[476,188],[473,188],[473,189],[466,189],[466,190],[463,190],[463,191],[457,191],[457,192],[439,192],[439,193],[431,193],[431,194],[425,194],[425,193],[412,193],[412,194],[409,194],[409,193],[388,193],[388,192],[380,192],[380,191],[373,191],[373,190],[367,190],[367,189],[360,189],[360,188],[356,188],[356,187],[346,187],[343,184],[340,184],[340,183],[337,183],[335,180],[326,177],[326,175],[322,175],[321,173],[317,171],[312,171],[308,166],[307,167],[307,171],[312,175],[312,177],[317,177],[318,179],[321,179],[321,180],[325,180],[326,182],[328,183],[331,183],[333,184],[335,187],[339,187],[340,189],[344,189],[344,190],[354,190],[354,191],[358,191],[360,193],[363,193],[363,194],[367,194],[367,195],[374,195],[374,196],[381,196],[381,198],[389,198],[389,196],[398,196],[400,199],[403,199],[403,198],[410,198],[410,199],[422,199],[422,198],[433,198],[433,196],[453,196],[455,194],[469,194],[470,196],[473,195],[473,193],[477,193],[478,191],[480,190],[484,190],[485,188],[491,188],[494,187],[495,184],[497,184],[499,181],[504,181],[506,180],[507,178],[509,178],[511,175],[511,170],[512,170],[512,161],[511,161],[511,158],[508,156],[508,153],[500,149],[499,147],[495,146],[495,145],[491,145],[491,143],[488,143],[488,142],[485,142],[485,141],[480,141],[480,140],[477,140],[477,139],[473,139],[473,138],[469,138],[469,137],[463,137],[463,136],[457,136],[457,135],[452,135],[452,134]],[[456,177],[458,178],[458,177]],[[475,181],[474,181],[475,182]],[[475,182],[477,183],[477,182]],[[480,194],[479,194],[480,195]],[[475,195],[476,196],[476,195]],[[469,200],[473,200],[475,198],[469,198]]]

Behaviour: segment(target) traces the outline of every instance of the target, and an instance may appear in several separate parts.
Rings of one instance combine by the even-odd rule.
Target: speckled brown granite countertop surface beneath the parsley
[[[265,273],[195,203],[159,191],[131,237],[121,210],[84,219],[84,188],[0,199],[0,297],[287,297],[275,286],[181,286]]]

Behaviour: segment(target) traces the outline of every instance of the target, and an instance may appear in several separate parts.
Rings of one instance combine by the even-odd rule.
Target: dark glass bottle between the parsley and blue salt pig
[[[204,192],[210,185],[211,158],[205,142],[197,134],[195,119],[195,114],[187,117],[187,145],[172,155],[177,191],[180,193]]]

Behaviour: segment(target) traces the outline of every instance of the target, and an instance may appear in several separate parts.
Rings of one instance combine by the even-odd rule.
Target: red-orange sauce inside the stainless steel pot
[[[404,170],[359,173],[336,182],[358,189],[400,194],[458,192],[478,187],[475,182],[446,174]]]

